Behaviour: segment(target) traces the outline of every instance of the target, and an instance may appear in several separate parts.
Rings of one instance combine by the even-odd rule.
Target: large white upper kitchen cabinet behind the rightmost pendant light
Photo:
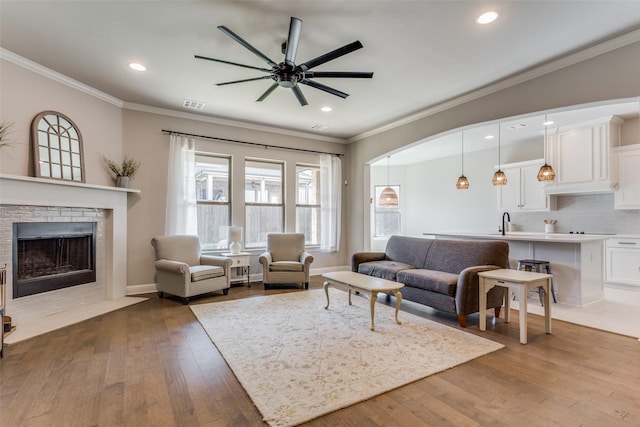
[[[549,135],[547,152],[556,179],[545,186],[547,194],[613,191],[617,174],[611,149],[620,145],[622,122],[609,116]]]

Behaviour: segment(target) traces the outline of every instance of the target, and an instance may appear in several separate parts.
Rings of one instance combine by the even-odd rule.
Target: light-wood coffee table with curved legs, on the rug
[[[344,289],[349,292],[349,305],[351,304],[351,291],[365,292],[369,294],[369,300],[371,305],[371,330],[374,329],[373,325],[373,313],[376,300],[378,298],[378,292],[393,292],[396,297],[396,323],[401,325],[398,320],[398,309],[402,302],[402,294],[400,288],[404,287],[402,283],[393,282],[391,280],[379,279],[377,277],[367,276],[366,274],[354,273],[352,271],[336,271],[333,273],[325,273],[322,275],[325,278],[324,292],[327,294],[327,306],[325,309],[329,309],[329,286]]]

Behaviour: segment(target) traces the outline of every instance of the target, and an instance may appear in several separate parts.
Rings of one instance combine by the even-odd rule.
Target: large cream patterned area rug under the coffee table
[[[502,344],[330,289],[191,310],[271,426],[294,426],[493,352]]]

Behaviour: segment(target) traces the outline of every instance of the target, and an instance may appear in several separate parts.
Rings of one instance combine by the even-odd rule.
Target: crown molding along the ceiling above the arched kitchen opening
[[[563,56],[562,58],[551,60],[550,62],[547,62],[538,67],[532,68],[528,71],[524,71],[522,73],[500,80],[496,83],[484,86],[480,89],[474,90],[462,96],[434,105],[432,107],[429,107],[417,113],[408,115],[406,117],[403,117],[399,120],[393,121],[386,125],[368,130],[366,132],[362,132],[361,134],[358,134],[356,136],[353,136],[347,139],[347,142],[349,143],[356,142],[361,139],[365,139],[383,132],[387,132],[397,127],[407,125],[409,123],[415,122],[425,117],[432,116],[436,113],[449,110],[451,108],[457,107],[467,102],[474,101],[476,99],[482,98],[492,93],[499,92],[503,89],[507,89],[509,87],[518,85],[520,83],[533,80],[537,77],[544,76],[545,74],[552,73],[554,71],[566,68],[568,66],[577,64],[579,62],[586,61],[587,59],[594,58],[596,56],[605,54],[607,52],[611,52],[615,49],[628,46],[630,44],[637,43],[637,42],[640,42],[640,30],[631,31],[629,33],[623,34],[621,36],[599,43],[597,45],[590,46],[578,52],[574,52],[569,55]]]

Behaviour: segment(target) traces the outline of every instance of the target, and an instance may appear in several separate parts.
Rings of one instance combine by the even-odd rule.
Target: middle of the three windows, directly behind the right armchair
[[[246,160],[244,168],[245,247],[267,245],[267,233],[284,230],[284,165]]]

